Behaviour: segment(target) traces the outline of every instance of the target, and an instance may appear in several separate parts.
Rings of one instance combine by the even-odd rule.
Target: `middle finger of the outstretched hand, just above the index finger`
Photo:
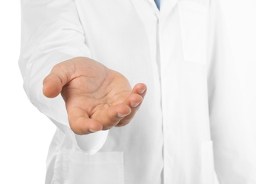
[[[122,118],[126,117],[131,112],[131,108],[129,108],[129,106],[125,103],[119,103],[113,106],[102,105],[97,107],[95,113],[91,115],[91,118],[102,124],[102,130],[109,130],[117,125]]]

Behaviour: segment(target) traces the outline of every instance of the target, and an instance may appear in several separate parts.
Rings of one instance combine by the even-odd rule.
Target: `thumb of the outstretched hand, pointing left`
[[[43,94],[48,98],[54,98],[60,94],[63,86],[71,81],[72,72],[67,63],[55,65],[50,74],[43,79]]]

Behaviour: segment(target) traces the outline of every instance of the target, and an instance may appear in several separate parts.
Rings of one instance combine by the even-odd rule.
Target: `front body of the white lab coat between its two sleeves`
[[[160,17],[149,1],[77,1],[92,59],[148,90],[134,120],[110,130],[97,154],[63,146],[58,157],[65,168],[55,171],[63,183],[198,184],[203,175],[213,176],[206,57],[201,58],[208,7],[198,2],[181,1]],[[183,53],[183,47],[196,54]],[[213,180],[204,179],[202,184]]]

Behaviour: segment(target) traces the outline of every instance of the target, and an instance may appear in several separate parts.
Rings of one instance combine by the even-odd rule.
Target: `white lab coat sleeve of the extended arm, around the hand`
[[[70,139],[75,149],[95,154],[108,131],[88,135],[70,130],[63,98],[43,96],[43,79],[67,59],[90,57],[74,0],[21,0],[21,54],[18,61],[23,88],[31,103]],[[40,131],[40,128],[38,130]],[[75,145],[75,146],[74,146]]]

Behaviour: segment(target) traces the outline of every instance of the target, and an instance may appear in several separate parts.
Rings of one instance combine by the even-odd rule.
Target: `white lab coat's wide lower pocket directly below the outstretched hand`
[[[113,184],[124,183],[123,152],[98,152],[88,156],[78,151],[67,151],[67,183]]]

